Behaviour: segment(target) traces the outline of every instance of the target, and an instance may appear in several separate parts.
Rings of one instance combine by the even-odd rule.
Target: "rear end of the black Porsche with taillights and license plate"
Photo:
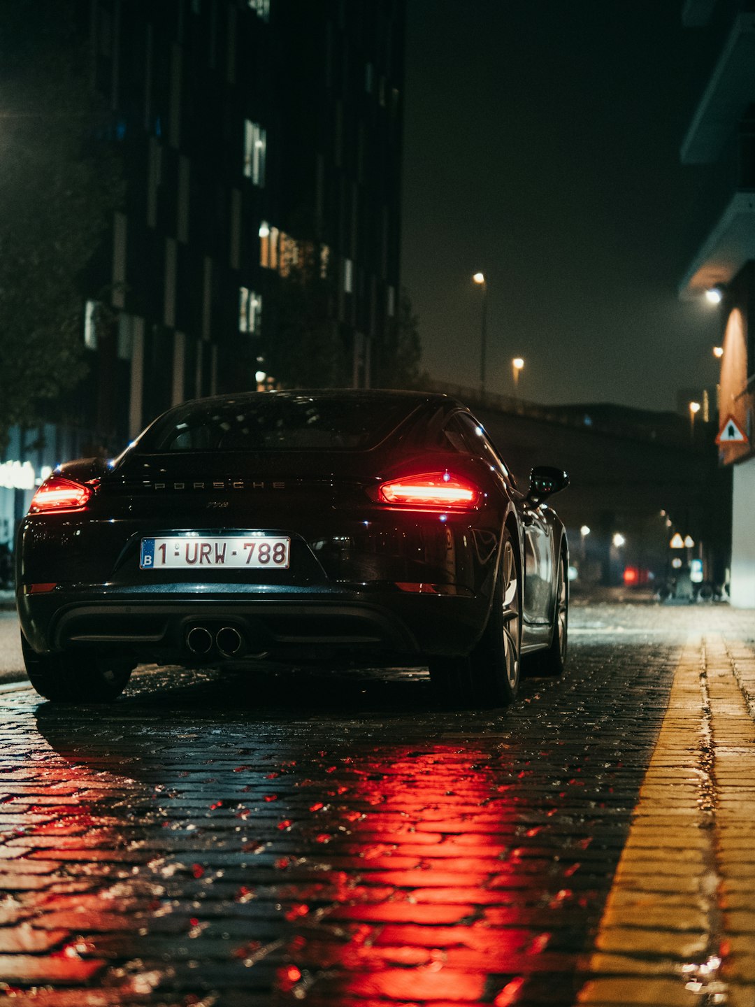
[[[19,531],[28,642],[184,664],[464,651],[487,617],[500,516],[463,460],[451,472],[399,441],[137,443],[116,463],[61,466]]]

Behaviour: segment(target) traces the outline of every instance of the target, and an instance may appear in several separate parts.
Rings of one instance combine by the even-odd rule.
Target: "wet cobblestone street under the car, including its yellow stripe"
[[[503,712],[398,670],[3,687],[0,998],[753,1007],[753,613],[572,614]]]

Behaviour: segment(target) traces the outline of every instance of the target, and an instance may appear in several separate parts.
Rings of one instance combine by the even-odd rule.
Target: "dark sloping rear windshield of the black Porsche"
[[[138,451],[358,450],[379,444],[417,403],[277,393],[193,403],[172,410],[140,438]]]

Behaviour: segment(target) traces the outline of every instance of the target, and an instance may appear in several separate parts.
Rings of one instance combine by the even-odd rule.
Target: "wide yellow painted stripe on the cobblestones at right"
[[[755,654],[689,642],[579,1004],[755,1007]]]

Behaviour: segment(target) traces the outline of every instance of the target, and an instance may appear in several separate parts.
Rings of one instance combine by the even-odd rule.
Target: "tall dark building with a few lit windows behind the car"
[[[126,183],[82,311],[77,421],[94,449],[117,452],[185,399],[291,374],[380,383],[405,0],[77,2]],[[30,460],[16,453],[0,464]]]

